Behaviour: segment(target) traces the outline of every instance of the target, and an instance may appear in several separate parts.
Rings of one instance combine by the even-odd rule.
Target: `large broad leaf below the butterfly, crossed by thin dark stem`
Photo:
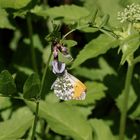
[[[26,102],[35,111],[33,102]],[[40,102],[39,116],[46,119],[50,128],[76,140],[92,140],[89,123],[74,106],[65,103]]]

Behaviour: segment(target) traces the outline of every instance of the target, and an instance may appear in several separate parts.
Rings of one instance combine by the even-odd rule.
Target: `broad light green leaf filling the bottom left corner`
[[[16,140],[31,127],[33,114],[27,107],[18,109],[12,118],[0,122],[0,140]]]

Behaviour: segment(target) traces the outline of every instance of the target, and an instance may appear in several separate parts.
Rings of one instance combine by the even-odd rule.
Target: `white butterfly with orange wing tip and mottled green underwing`
[[[63,75],[58,76],[51,89],[61,100],[84,100],[86,97],[86,86],[66,70]]]

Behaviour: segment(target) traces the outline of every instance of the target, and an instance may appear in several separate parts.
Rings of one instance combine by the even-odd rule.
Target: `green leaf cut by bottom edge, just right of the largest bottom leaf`
[[[101,119],[91,119],[90,124],[92,125],[94,132],[94,140],[117,140],[109,126]]]

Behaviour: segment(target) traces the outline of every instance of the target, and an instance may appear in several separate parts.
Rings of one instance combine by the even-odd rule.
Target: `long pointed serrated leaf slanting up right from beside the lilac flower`
[[[118,45],[118,41],[107,35],[100,35],[97,39],[91,40],[84,49],[80,51],[77,58],[73,62],[71,68],[79,66],[87,59],[97,57],[98,55],[106,53],[109,49]]]

